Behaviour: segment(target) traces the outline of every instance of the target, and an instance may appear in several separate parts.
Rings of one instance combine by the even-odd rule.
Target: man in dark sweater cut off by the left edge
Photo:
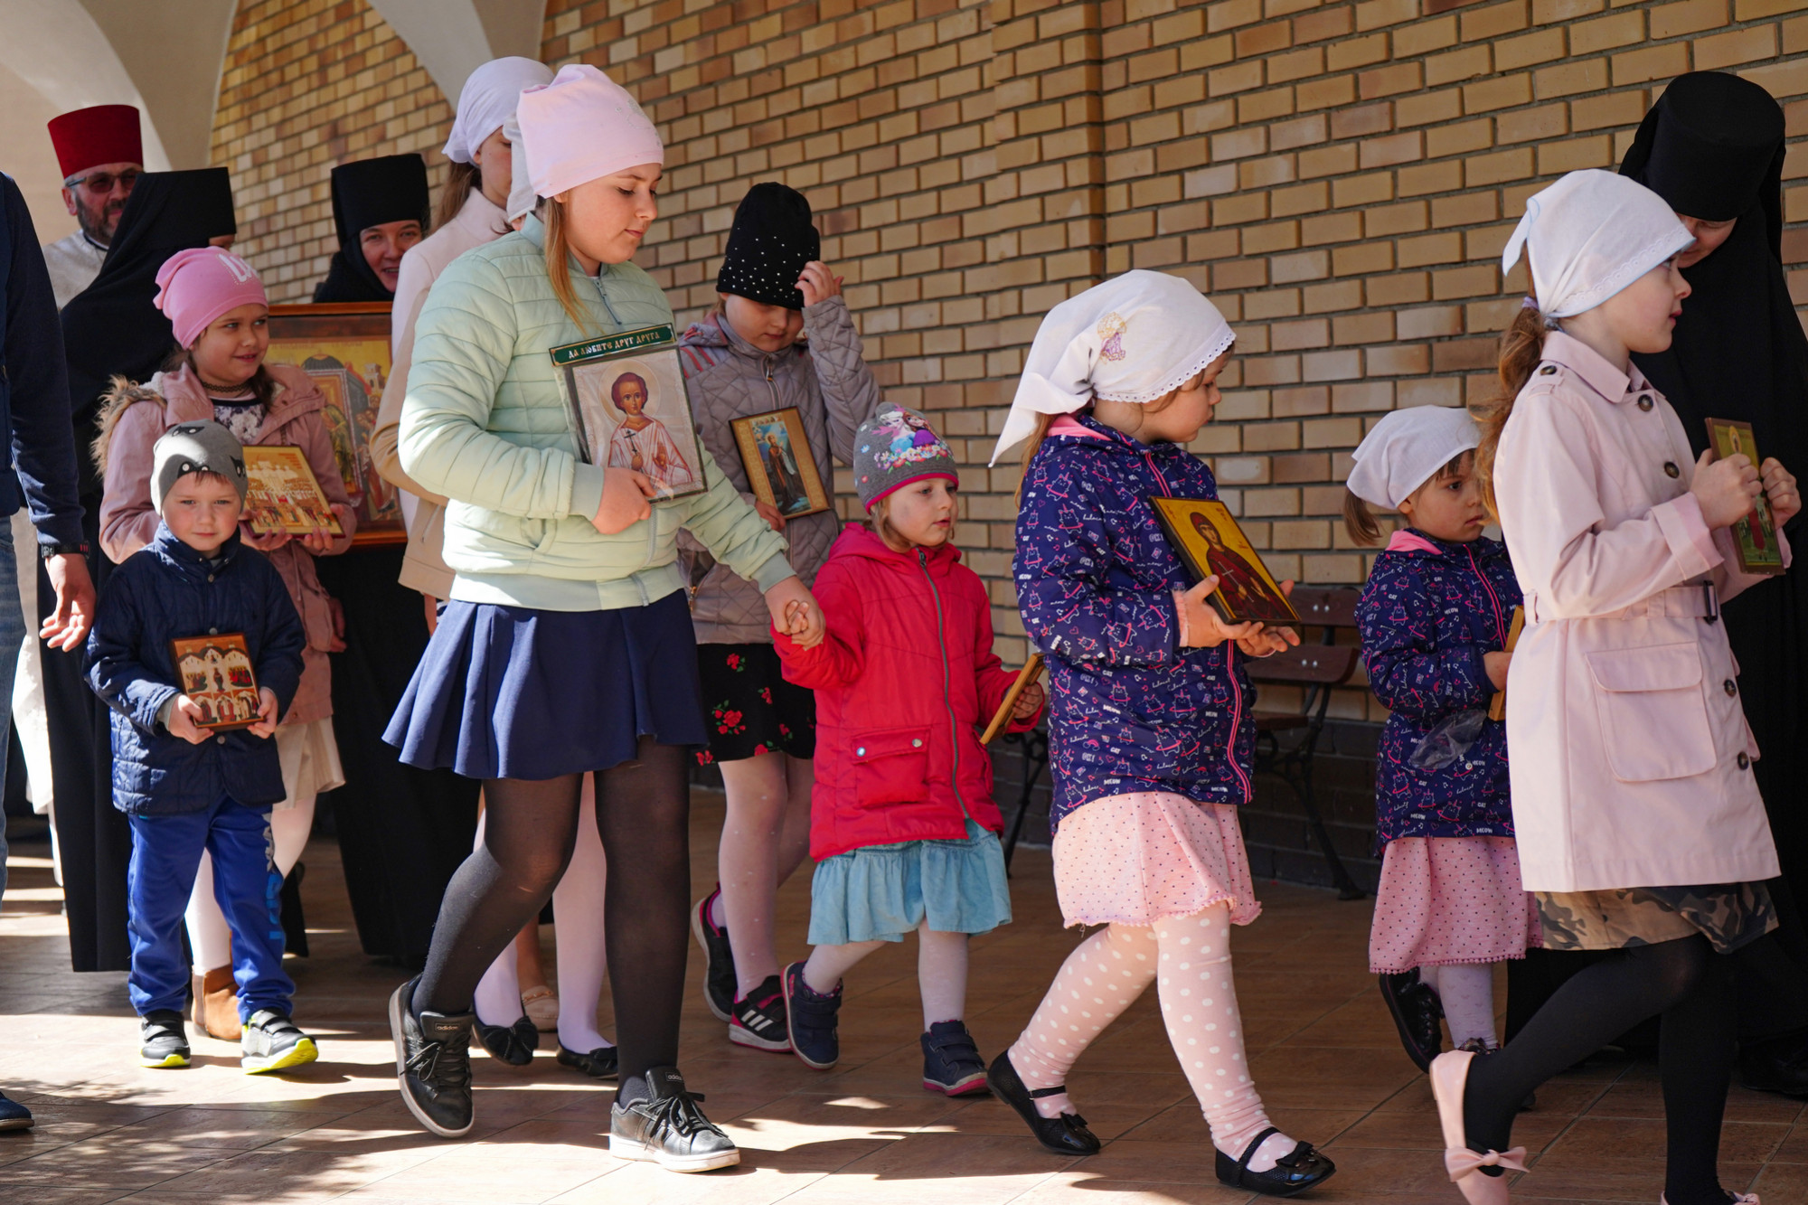
[[[0,174],[0,423],[13,441],[13,472],[0,474],[0,517],[31,508],[38,546],[56,588],[56,612],[43,622],[54,648],[76,650],[94,621],[94,584],[83,559],[81,505],[76,501],[76,438],[69,422],[63,331],[51,273],[38,250],[25,197]],[[13,673],[25,640],[18,602],[18,563],[11,527],[0,523],[0,715],[13,713]],[[0,745],[0,776],[5,747]],[[0,811],[0,892],[5,890],[5,814]],[[31,1111],[0,1095],[0,1131],[25,1129]]]

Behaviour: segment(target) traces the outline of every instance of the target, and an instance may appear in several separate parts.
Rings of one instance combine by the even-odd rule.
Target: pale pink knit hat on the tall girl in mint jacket
[[[524,89],[515,107],[533,192],[553,197],[642,163],[665,165],[665,145],[620,83],[588,63]]]

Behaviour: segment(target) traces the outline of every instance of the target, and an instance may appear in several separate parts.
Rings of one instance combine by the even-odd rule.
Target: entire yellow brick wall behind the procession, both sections
[[[1528,194],[1618,163],[1681,71],[1747,74],[1808,132],[1808,0],[550,0],[542,58],[602,67],[660,127],[640,262],[682,318],[749,185],[810,197],[886,396],[964,460],[960,543],[1007,659],[1016,470],[985,458],[1054,302],[1128,268],[1210,293],[1238,360],[1195,451],[1278,574],[1354,583],[1349,451],[1389,409],[1492,387]],[[240,13],[215,161],[284,297],[324,270],[325,165],[436,163],[448,119],[363,0]],[[1786,213],[1808,221],[1808,186]],[[1784,250],[1808,261],[1808,230]]]

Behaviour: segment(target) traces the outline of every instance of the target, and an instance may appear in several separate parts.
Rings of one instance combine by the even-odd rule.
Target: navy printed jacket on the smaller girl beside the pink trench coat
[[[1390,715],[1376,756],[1376,841],[1419,836],[1513,836],[1506,724],[1484,720],[1468,753],[1441,769],[1407,758],[1439,722],[1486,707],[1483,653],[1506,648],[1519,606],[1506,545],[1454,545],[1407,528],[1376,557],[1356,602],[1363,666]]]

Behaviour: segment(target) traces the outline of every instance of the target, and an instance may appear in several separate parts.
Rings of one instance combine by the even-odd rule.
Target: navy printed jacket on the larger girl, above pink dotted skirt
[[[1170,791],[1246,803],[1255,691],[1233,644],[1181,648],[1191,586],[1152,496],[1217,498],[1197,456],[1139,443],[1090,414],[1050,434],[1023,478],[1012,575],[1049,664],[1050,825],[1092,800]]]

